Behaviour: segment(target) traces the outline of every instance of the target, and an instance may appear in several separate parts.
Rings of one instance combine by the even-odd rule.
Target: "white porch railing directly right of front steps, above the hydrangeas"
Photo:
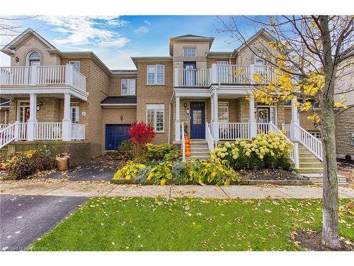
[[[219,140],[250,138],[250,123],[219,123]]]

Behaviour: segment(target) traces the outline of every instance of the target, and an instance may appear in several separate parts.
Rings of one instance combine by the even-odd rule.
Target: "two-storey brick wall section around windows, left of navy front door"
[[[156,133],[153,143],[167,143],[169,141],[169,103],[173,93],[173,67],[171,61],[159,62],[165,65],[165,84],[147,85],[147,65],[156,63],[137,63],[137,122],[147,121],[147,104],[164,104],[164,133]]]

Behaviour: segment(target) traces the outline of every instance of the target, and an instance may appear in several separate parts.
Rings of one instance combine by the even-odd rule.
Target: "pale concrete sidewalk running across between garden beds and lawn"
[[[310,186],[152,186],[119,185],[107,182],[1,182],[0,194],[45,196],[146,196],[200,197],[209,199],[264,199],[322,197],[321,187]],[[339,187],[341,198],[354,198],[354,189]]]

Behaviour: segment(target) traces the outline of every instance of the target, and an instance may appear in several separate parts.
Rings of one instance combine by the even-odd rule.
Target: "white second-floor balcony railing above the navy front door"
[[[263,81],[275,78],[274,67],[269,65],[217,65],[210,69],[175,69],[174,87],[210,87],[211,84],[256,84],[254,74]]]

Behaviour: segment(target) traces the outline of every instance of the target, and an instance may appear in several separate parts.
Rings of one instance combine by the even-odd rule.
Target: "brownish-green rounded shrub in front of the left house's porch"
[[[29,177],[35,172],[51,170],[55,167],[55,159],[45,150],[30,150],[13,153],[4,165],[8,174],[14,179]]]

